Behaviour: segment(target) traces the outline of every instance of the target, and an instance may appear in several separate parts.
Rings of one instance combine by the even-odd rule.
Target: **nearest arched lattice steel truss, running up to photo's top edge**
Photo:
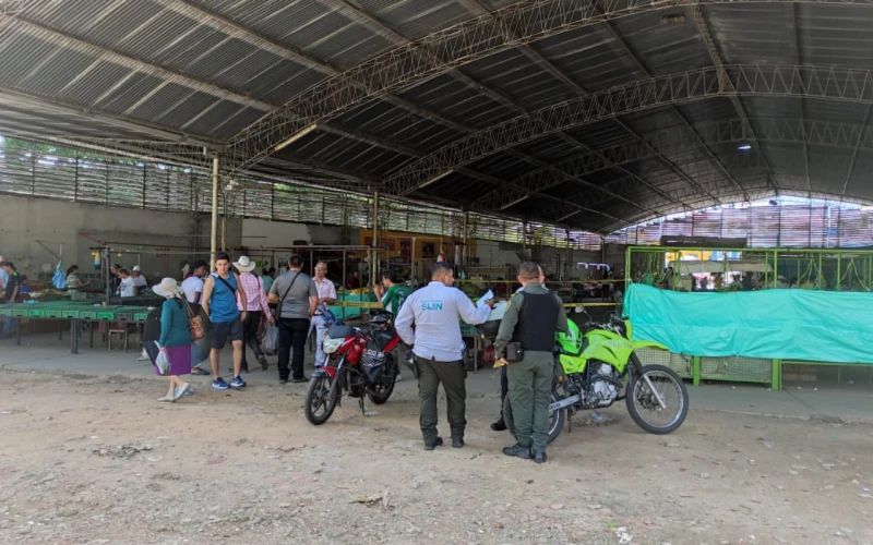
[[[494,11],[493,20],[483,15],[443,28],[313,85],[231,140],[228,150],[234,158],[234,168],[258,162],[270,155],[276,143],[313,122],[322,124],[367,100],[491,55],[603,21],[701,2],[736,3],[733,0],[606,0],[601,7],[596,7],[593,2],[521,0]],[[871,0],[820,0],[820,3],[869,4]],[[516,29],[516,39],[506,39],[503,27]],[[439,53],[442,61],[422,55],[422,50]]]

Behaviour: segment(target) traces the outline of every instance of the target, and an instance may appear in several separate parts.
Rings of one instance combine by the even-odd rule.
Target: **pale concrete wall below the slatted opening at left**
[[[142,250],[136,254],[113,254],[111,263],[132,267],[140,263],[143,271],[152,276],[179,276],[182,261],[208,261],[208,214],[164,213],[139,208],[122,208],[48,198],[0,195],[0,255],[14,261],[23,274],[35,278],[47,263],[55,270],[57,259],[37,241],[43,241],[51,252],[59,254],[63,244],[63,265],[79,265],[85,275],[94,274],[94,258],[89,247],[99,245],[80,233],[110,241],[113,246]],[[219,243],[222,223],[219,219]],[[309,244],[340,244],[344,230],[332,226],[273,222],[260,219],[228,218],[227,247],[246,246],[255,253],[261,246],[290,246],[296,240]],[[358,230],[347,229],[351,244],[358,244]],[[154,247],[170,249],[167,256],[158,256]],[[232,252],[231,252],[232,253]]]

